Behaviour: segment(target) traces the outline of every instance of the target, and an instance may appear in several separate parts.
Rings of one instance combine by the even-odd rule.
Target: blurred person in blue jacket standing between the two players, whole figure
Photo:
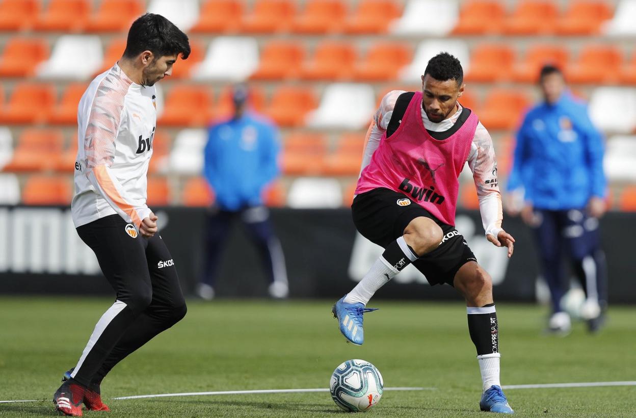
[[[204,176],[216,201],[207,216],[204,274],[197,293],[206,300],[214,298],[219,259],[233,221],[240,219],[263,261],[270,296],[286,298],[282,247],[262,198],[265,187],[280,173],[279,132],[272,122],[249,110],[246,85],[234,85],[232,99],[232,117],[209,127],[205,146]]]

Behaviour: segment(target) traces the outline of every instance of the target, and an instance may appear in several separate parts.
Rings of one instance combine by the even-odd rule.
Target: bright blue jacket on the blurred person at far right
[[[554,105],[539,104],[517,132],[508,190],[523,187],[525,200],[539,209],[586,206],[605,197],[603,139],[584,102],[563,94]]]

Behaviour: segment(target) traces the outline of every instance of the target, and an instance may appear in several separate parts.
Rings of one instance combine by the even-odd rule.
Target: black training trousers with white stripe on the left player
[[[146,239],[119,215],[77,228],[91,247],[115,303],[102,315],[88,340],[73,378],[88,386],[131,352],[186,314],[174,260],[158,233]]]

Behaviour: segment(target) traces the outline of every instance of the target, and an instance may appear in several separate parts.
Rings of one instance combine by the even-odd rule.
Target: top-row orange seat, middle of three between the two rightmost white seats
[[[504,33],[509,35],[551,34],[555,31],[558,10],[551,0],[524,0],[504,20]]]

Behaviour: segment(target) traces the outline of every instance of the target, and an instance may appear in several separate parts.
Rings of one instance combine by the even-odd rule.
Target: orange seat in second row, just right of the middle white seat
[[[297,41],[270,41],[263,47],[258,69],[252,80],[284,80],[295,78],[305,59],[305,45]]]

